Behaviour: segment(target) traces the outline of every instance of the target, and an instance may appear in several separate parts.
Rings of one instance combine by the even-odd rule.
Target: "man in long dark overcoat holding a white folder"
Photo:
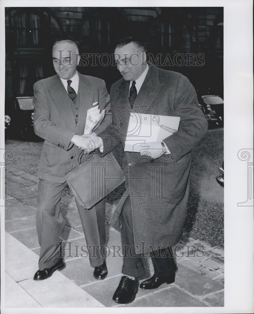
[[[144,255],[152,257],[154,275],[140,288],[156,289],[175,280],[171,247],[179,241],[186,217],[190,152],[204,137],[207,121],[190,81],[180,73],[148,65],[142,42],[124,38],[114,54],[123,78],[110,90],[112,124],[91,139],[103,154],[122,147],[126,192],[109,223],[121,230],[124,251],[124,276],[113,300],[129,303],[135,299],[139,278],[146,276]],[[125,152],[132,112],[180,117],[178,132],[162,142],[140,144],[140,153]]]

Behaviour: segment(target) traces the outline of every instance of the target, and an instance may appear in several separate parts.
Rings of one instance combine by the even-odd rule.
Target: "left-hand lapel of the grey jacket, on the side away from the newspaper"
[[[68,122],[71,129],[76,131],[76,123],[75,118],[73,116],[73,111],[71,109],[71,105],[69,102],[69,95],[64,88],[63,83],[61,82],[58,75],[55,76],[55,82],[52,84],[50,88],[50,94],[57,104],[58,108],[62,112],[65,120]]]

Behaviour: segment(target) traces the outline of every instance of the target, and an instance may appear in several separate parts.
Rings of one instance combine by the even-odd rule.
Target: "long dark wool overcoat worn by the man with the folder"
[[[135,250],[142,253],[149,251],[148,246],[156,250],[179,241],[187,212],[191,150],[204,137],[207,121],[194,87],[180,73],[150,65],[133,109],[128,101],[129,83],[121,78],[112,85],[112,124],[99,136],[103,154],[119,154],[121,147],[126,176],[127,190],[109,223],[120,228],[123,204],[130,195]],[[171,155],[152,159],[123,151],[132,112],[180,117],[178,132],[163,140]]]

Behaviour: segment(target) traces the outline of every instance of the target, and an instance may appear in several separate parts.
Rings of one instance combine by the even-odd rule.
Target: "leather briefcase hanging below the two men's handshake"
[[[96,152],[84,154],[84,151],[79,156],[78,165],[64,177],[78,203],[86,209],[93,207],[125,180],[113,154],[100,157]]]

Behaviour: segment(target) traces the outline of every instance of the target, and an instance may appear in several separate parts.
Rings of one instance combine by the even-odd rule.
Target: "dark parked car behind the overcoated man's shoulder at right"
[[[218,95],[201,96],[202,109],[209,127],[223,127],[224,121],[224,101]]]

